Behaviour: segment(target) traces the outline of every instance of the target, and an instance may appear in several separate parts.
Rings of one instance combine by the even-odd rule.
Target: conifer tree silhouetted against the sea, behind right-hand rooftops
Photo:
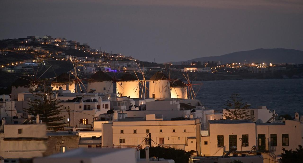
[[[242,102],[242,98],[239,94],[232,94],[229,100],[224,104],[224,109],[227,113],[224,113],[224,117],[226,119],[250,119],[254,121],[254,118],[251,118],[249,113],[249,105],[247,103]]]

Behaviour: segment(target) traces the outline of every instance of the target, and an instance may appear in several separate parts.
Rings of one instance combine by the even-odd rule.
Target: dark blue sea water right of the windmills
[[[303,115],[303,79],[246,79],[202,81],[196,99],[205,108],[222,110],[225,101],[238,93],[251,108],[267,106],[279,115]]]

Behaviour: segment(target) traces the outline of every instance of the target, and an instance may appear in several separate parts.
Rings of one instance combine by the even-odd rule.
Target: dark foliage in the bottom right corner
[[[285,148],[282,148],[283,152],[281,154],[281,162],[282,163],[295,163],[295,162],[302,162],[303,160],[303,148],[302,145],[298,146],[299,148],[296,148],[296,151],[292,150],[285,150]]]

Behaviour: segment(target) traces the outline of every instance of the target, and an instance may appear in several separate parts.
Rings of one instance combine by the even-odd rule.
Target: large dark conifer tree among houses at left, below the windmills
[[[34,116],[38,114],[42,123],[46,123],[48,127],[57,127],[59,125],[65,124],[58,122],[62,121],[65,115],[60,116],[61,109],[59,108],[62,106],[58,105],[58,100],[52,99],[52,95],[52,87],[45,86],[43,90],[41,89],[39,93],[36,93],[34,95],[37,97],[37,99],[31,100],[28,103],[29,108],[23,109],[24,111]]]

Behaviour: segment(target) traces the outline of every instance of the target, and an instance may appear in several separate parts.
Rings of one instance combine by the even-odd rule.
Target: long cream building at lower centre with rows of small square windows
[[[200,121],[185,119],[163,121],[162,115],[146,115],[146,119],[117,119],[102,124],[102,146],[145,147],[151,133],[152,145],[174,147],[185,151],[200,150]]]

